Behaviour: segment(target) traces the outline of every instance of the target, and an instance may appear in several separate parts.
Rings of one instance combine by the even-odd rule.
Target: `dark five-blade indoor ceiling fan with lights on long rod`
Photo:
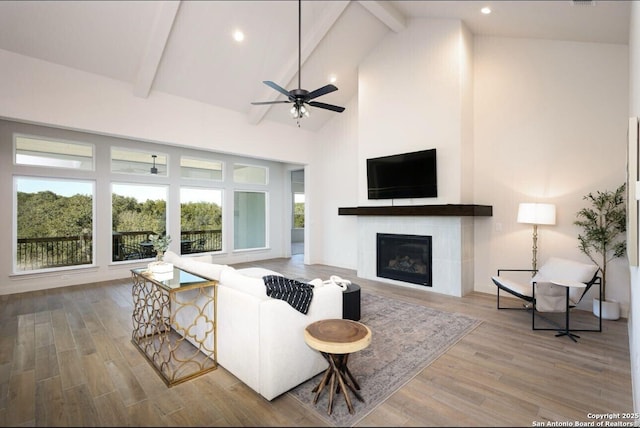
[[[305,104],[323,108],[325,110],[331,110],[338,113],[342,113],[344,111],[344,107],[336,106],[333,104],[321,103],[318,101],[312,101],[319,96],[337,91],[338,88],[335,85],[328,84],[321,88],[316,89],[315,91],[307,91],[306,89],[302,89],[300,85],[300,57],[301,57],[301,34],[302,34],[302,0],[298,0],[298,89],[292,89],[287,91],[282,86],[274,83],[270,80],[264,80],[262,83],[265,85],[275,89],[281,94],[287,97],[286,101],[257,101],[252,102],[254,105],[261,104],[284,104],[284,103],[293,103],[293,107],[291,107],[291,116],[298,120],[298,127],[300,127],[300,119],[302,117],[309,117],[309,109],[305,107]]]

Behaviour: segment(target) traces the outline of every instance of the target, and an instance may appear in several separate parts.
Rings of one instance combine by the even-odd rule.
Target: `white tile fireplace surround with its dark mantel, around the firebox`
[[[338,214],[358,216],[359,277],[457,297],[473,291],[474,217],[491,216],[491,206],[353,207],[339,208]],[[378,233],[431,236],[433,286],[376,276]]]

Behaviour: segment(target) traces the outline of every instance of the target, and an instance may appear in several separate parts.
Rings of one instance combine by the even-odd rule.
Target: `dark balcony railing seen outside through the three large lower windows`
[[[113,232],[112,260],[136,260],[155,257],[150,235],[153,231]],[[222,230],[183,231],[181,254],[222,251]],[[91,235],[51,238],[19,238],[16,265],[19,271],[91,264]]]

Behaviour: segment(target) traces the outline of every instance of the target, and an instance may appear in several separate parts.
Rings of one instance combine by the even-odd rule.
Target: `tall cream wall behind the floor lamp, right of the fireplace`
[[[532,226],[516,223],[520,202],[556,204],[557,224],[538,229],[538,265],[550,256],[589,262],[573,221],[584,195],[626,181],[628,51],[476,37],[474,66],[474,195],[493,205],[491,221],[476,222],[475,289],[493,293],[498,268],[531,266]],[[607,298],[626,316],[627,261],[609,266]]]

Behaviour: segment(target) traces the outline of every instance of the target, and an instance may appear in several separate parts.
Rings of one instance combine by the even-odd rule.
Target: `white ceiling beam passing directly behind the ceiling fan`
[[[314,23],[311,30],[309,30],[300,43],[300,67],[305,63],[307,58],[318,47],[324,36],[327,35],[331,27],[336,23],[342,12],[349,5],[350,0],[331,1],[327,2],[327,8],[323,15]],[[298,50],[292,52],[288,61],[285,61],[285,66],[280,69],[279,73],[275,73],[274,82],[279,85],[285,85],[291,81],[298,73]],[[266,85],[262,85],[264,88],[260,90],[259,94],[256,94],[254,99],[261,101],[275,101],[278,99],[280,93],[270,89]],[[267,114],[271,105],[251,105],[249,107],[248,121],[252,125],[257,125]]]

